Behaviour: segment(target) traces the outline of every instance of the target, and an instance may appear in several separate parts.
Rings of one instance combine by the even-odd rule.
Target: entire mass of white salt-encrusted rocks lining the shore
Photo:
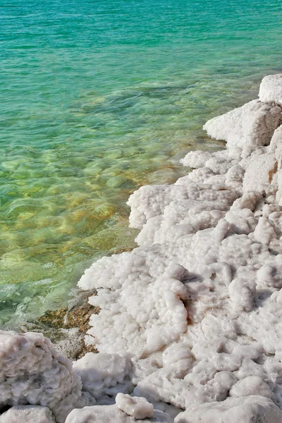
[[[79,282],[98,291],[99,354],[72,369],[43,336],[1,334],[0,405],[56,423],[282,423],[281,93],[282,75],[264,78],[260,100],[204,125],[226,150],[131,195],[139,247]]]

